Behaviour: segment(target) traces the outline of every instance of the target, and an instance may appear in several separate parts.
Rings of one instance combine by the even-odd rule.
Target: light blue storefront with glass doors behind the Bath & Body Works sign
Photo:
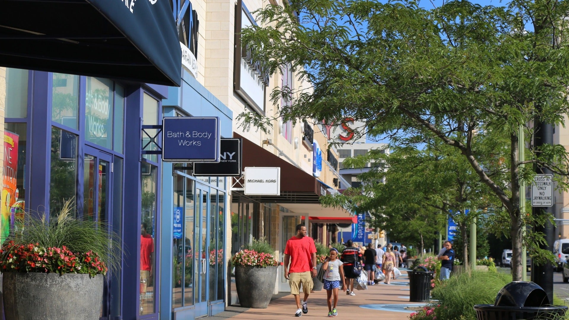
[[[183,70],[164,117],[219,117],[232,137],[232,112]],[[193,177],[191,163],[162,163],[160,319],[195,319],[225,310],[226,217],[230,178]]]

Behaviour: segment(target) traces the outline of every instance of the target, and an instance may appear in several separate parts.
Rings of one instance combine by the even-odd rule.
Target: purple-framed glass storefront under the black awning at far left
[[[159,124],[167,87],[3,70],[3,239],[18,215],[49,220],[74,201],[77,216],[108,224],[121,239],[121,268],[105,276],[101,318],[158,319],[160,268],[151,259],[142,289],[140,248],[145,225],[150,251],[159,251],[161,168],[141,157],[140,128]]]

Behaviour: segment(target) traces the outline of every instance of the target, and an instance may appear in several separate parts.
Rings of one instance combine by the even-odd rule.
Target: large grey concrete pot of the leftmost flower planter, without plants
[[[6,320],[98,320],[104,276],[89,274],[3,273]]]

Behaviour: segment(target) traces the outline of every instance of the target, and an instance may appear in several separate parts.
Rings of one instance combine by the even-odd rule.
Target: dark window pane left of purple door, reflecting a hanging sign
[[[77,135],[51,128],[50,215],[73,199],[77,181]]]

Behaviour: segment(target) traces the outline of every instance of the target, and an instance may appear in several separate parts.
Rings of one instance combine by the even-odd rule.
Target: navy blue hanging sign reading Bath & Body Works
[[[220,162],[219,117],[165,117],[162,160]]]

